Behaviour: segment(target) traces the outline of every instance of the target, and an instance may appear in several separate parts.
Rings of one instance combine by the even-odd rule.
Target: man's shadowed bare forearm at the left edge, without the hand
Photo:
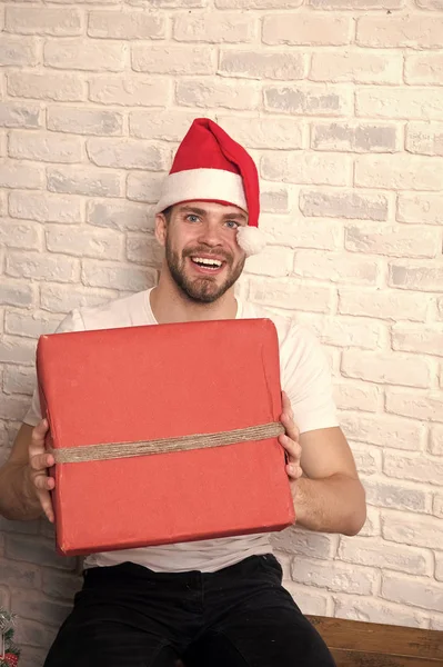
[[[27,465],[11,461],[0,469],[0,515],[7,519],[24,521],[42,514],[27,469]]]

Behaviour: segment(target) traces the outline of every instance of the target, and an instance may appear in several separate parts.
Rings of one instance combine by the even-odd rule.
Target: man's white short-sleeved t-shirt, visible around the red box
[[[157,325],[150,305],[150,291],[95,308],[73,310],[58,327],[57,332]],[[291,400],[300,432],[338,426],[331,375],[315,337],[289,319],[238,299],[238,319],[263,317],[271,319],[278,331],[281,384]],[[40,419],[40,401],[36,390],[24,422],[36,426]],[[107,551],[88,556],[84,566],[111,566],[131,561],[154,571],[210,573],[234,565],[249,556],[269,554],[272,550],[268,534],[259,534]]]

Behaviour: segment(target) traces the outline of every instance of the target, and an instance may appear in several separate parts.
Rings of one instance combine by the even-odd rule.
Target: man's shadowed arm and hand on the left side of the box
[[[7,519],[37,519],[42,511],[53,521],[49,491],[54,480],[48,477],[53,457],[44,452],[48,422],[36,427],[23,424],[8,461],[0,468],[0,515]]]

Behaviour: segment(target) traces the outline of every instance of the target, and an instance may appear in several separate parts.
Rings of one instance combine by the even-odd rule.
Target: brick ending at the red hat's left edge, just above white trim
[[[169,163],[169,152],[139,139],[89,139],[87,152],[90,161],[99,167],[164,171]]]

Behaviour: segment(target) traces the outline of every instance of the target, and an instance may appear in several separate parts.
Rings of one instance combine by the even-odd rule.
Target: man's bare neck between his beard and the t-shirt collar
[[[238,309],[233,287],[213,303],[201,303],[189,299],[175,283],[160,279],[150,298],[151,310],[159,325],[234,319]]]

